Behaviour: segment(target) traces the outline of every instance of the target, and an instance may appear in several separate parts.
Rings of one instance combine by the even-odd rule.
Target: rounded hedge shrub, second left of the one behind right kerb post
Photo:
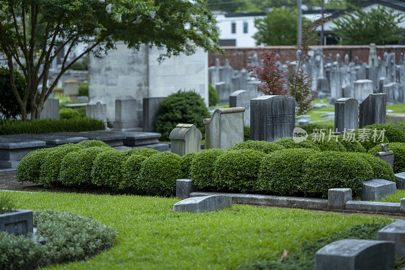
[[[265,156],[265,153],[252,149],[226,151],[215,161],[217,188],[241,192],[254,190],[260,163]]]

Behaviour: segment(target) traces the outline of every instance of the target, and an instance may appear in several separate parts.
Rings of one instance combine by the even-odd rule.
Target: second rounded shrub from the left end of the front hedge
[[[64,157],[70,152],[78,152],[81,150],[83,150],[82,147],[73,143],[67,143],[52,148],[41,164],[39,181],[44,183],[45,186],[51,186],[53,182],[57,182]]]

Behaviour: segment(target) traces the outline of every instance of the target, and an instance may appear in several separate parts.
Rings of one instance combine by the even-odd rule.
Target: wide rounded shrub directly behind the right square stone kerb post
[[[370,164],[354,152],[319,152],[316,157],[307,159],[303,165],[305,174],[304,190],[319,192],[328,196],[328,189],[348,187],[354,193],[362,187],[362,182],[372,179]]]

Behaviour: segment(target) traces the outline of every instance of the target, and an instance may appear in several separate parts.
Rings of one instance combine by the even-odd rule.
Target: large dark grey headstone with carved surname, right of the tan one
[[[275,141],[292,137],[295,127],[295,100],[286,96],[251,99],[252,140]]]

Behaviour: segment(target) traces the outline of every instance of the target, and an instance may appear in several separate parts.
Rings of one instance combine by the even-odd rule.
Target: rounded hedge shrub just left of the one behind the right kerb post
[[[294,195],[304,189],[304,163],[319,155],[318,151],[306,148],[291,148],[270,153],[260,164],[258,189]]]

